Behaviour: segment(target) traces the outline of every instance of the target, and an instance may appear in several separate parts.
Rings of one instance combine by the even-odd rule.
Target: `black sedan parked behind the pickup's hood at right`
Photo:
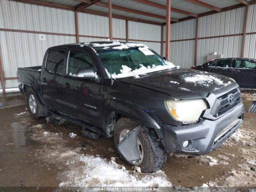
[[[256,88],[256,59],[221,58],[191,69],[228,76],[242,88]]]

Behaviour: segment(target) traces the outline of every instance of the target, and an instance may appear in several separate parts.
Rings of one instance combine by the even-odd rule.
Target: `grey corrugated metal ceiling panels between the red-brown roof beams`
[[[88,2],[88,0],[39,0],[39,1],[70,6],[73,8],[78,6],[82,2],[85,2],[85,3]],[[248,1],[251,1],[251,0],[248,0]],[[93,2],[93,0],[91,0],[91,2]],[[108,0],[100,0],[100,2],[108,4]],[[166,0],[148,0],[148,2],[154,2],[156,4],[161,4],[161,5],[166,6]],[[199,2],[203,2],[203,3],[209,4],[211,6],[214,6],[216,8],[220,8],[220,9],[241,4],[238,0],[200,0]],[[146,12],[146,13],[150,13],[150,14],[155,14],[155,15],[159,15],[159,16],[166,16],[166,10],[164,10],[162,8],[155,7],[155,6],[150,6],[145,3],[143,4],[143,3],[140,3],[135,0],[112,0],[112,5],[120,6],[123,8],[129,8],[131,10]],[[182,11],[190,12],[193,14],[203,14],[203,13],[212,11],[212,9],[210,9],[210,8],[206,8],[204,6],[200,6],[193,2],[189,2],[189,0],[172,0],[171,7],[182,10]],[[85,9],[97,11],[97,12],[108,13],[108,8],[106,8],[104,6],[94,5],[94,4],[86,7]],[[122,11],[122,10],[116,10],[116,9],[112,10],[112,14],[126,16],[126,17],[130,17],[130,18],[148,20],[148,21],[158,22],[158,23],[165,22],[165,20],[161,19],[161,18],[154,18],[151,16],[144,16],[141,14],[135,14],[135,13],[126,12],[126,11]],[[185,14],[171,11],[171,17],[174,19],[182,19],[182,18],[188,17],[188,15],[185,15]]]

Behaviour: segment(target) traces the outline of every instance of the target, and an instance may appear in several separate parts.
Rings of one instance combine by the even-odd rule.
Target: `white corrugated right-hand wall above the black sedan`
[[[255,5],[250,6],[249,9],[250,32],[251,29],[256,29],[255,7]],[[197,65],[206,62],[207,55],[213,52],[223,54],[224,57],[241,56],[245,9],[242,7],[198,18]],[[171,62],[186,68],[194,65],[195,40],[176,40],[194,39],[195,32],[196,19],[171,24],[171,41],[175,41],[170,45]],[[208,38],[225,35],[234,36]],[[253,35],[246,38],[246,46],[250,47],[246,49],[247,55],[254,54],[253,51],[249,51],[255,46],[255,43],[252,44],[255,42],[253,38]]]

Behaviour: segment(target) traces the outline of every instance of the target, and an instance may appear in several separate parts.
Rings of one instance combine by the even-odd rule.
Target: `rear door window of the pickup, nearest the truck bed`
[[[46,61],[46,70],[50,73],[63,73],[63,61],[65,58],[65,51],[50,51]]]

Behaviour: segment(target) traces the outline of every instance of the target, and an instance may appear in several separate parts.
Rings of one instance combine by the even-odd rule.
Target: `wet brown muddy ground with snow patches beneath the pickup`
[[[246,111],[254,92],[242,94]],[[168,154],[156,174],[142,174],[119,160],[112,138],[84,138],[74,124],[30,118],[23,97],[0,98],[0,188],[80,186],[195,186],[256,188],[256,114],[204,156]],[[14,106],[8,108],[9,106]],[[0,107],[1,107],[0,106]],[[75,138],[69,138],[70,133]],[[197,190],[198,188],[193,188]],[[1,190],[0,190],[1,191]],[[4,191],[4,190],[3,190]]]

